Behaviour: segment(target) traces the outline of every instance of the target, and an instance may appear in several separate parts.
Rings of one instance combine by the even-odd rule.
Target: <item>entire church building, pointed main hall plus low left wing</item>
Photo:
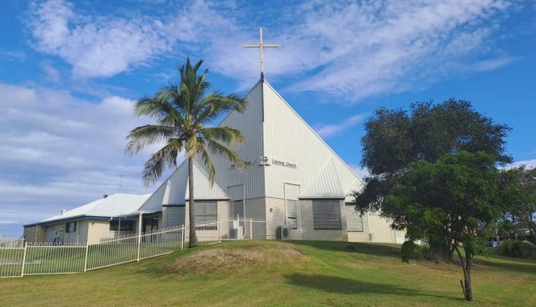
[[[233,148],[246,162],[246,172],[214,155],[216,178],[211,183],[200,160],[193,164],[195,221],[204,225],[198,236],[239,237],[237,218],[254,218],[266,221],[265,239],[404,240],[404,232],[392,230],[378,214],[355,211],[349,195],[363,187],[361,179],[264,78],[245,100],[246,112],[230,113],[219,126],[236,128],[246,137],[245,144]],[[189,227],[187,217],[185,161],[151,195],[112,195],[26,225],[24,237],[91,243],[119,232]],[[214,223],[228,219],[237,223]]]

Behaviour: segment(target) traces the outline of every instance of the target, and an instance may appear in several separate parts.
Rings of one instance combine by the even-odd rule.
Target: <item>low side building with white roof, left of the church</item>
[[[140,208],[149,195],[114,194],[84,204],[81,207],[24,225],[24,240],[50,244],[97,243],[103,239],[133,234],[137,231],[137,220],[126,216]],[[156,219],[147,216],[144,227],[158,227]],[[156,224],[156,225],[155,225]]]

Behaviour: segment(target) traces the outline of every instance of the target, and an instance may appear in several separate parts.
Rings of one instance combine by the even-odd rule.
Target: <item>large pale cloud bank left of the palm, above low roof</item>
[[[0,216],[13,223],[46,218],[59,209],[142,186],[144,161],[154,148],[124,156],[126,134],[150,119],[133,117],[133,101],[75,98],[43,87],[0,84]]]

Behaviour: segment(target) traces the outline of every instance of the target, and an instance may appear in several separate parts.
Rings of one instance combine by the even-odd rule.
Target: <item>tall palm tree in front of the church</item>
[[[184,151],[188,159],[188,185],[190,207],[190,247],[198,246],[195,234],[195,207],[193,196],[193,160],[199,157],[207,167],[211,184],[214,183],[214,165],[209,153],[215,153],[230,160],[239,170],[245,163],[232,151],[229,144],[241,144],[246,138],[239,130],[230,127],[211,127],[216,119],[232,111],[243,113],[246,102],[234,93],[224,96],[221,92],[207,93],[208,70],[198,75],[203,60],[179,67],[179,84],[162,87],[151,97],[143,97],[135,103],[135,116],[147,116],[156,121],[131,130],[127,136],[125,153],[133,155],[151,144],[165,143],[165,146],[151,155],[145,163],[143,181],[145,186],[153,185],[161,177],[166,167],[177,167],[177,156]]]

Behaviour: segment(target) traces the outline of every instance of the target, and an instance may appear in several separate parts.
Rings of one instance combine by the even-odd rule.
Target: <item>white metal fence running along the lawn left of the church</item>
[[[221,240],[266,239],[265,220],[237,218],[196,223],[198,245]],[[170,227],[105,239],[96,244],[47,244],[12,241],[0,244],[0,278],[72,274],[140,261],[188,247],[188,228]]]

